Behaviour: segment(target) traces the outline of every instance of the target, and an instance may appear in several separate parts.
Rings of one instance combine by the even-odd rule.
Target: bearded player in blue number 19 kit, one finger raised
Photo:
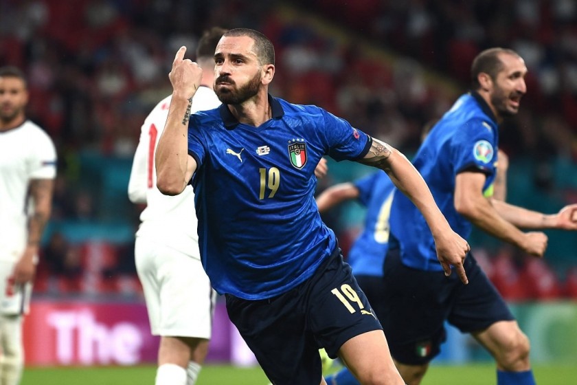
[[[274,48],[238,28],[216,47],[223,104],[189,114],[202,69],[177,52],[172,101],[156,151],[157,186],[195,192],[201,259],[214,289],[275,384],[326,384],[318,349],[362,384],[404,384],[370,303],[343,263],[314,199],[323,155],[381,168],[420,209],[438,256],[460,279],[468,243],[451,230],[414,166],[388,144],[315,106],[269,95]],[[194,215],[194,213],[191,213]]]

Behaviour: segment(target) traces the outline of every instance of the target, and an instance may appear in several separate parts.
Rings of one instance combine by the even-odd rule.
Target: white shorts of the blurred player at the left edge
[[[11,277],[15,265],[15,262],[0,261],[0,314],[5,316],[28,314],[30,311],[32,283],[14,285]]]

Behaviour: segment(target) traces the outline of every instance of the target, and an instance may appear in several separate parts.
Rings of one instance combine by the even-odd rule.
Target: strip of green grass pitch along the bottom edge
[[[21,385],[152,385],[154,366],[60,367],[25,369]],[[539,385],[577,384],[577,366],[539,365],[534,367]],[[196,385],[267,385],[259,367],[237,368],[228,365],[203,367]],[[433,365],[422,385],[495,384],[492,364],[459,366]]]

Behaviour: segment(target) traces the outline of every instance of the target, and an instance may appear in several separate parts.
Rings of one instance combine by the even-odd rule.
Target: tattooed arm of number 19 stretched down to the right
[[[468,283],[463,261],[471,248],[451,229],[435,203],[429,186],[409,159],[392,146],[373,138],[369,152],[359,162],[384,170],[395,186],[411,199],[431,229],[445,275],[451,274],[450,265],[453,265],[461,281]]]

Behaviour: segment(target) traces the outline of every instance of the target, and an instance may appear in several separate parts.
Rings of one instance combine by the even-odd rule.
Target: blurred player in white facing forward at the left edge
[[[0,384],[19,384],[23,315],[30,309],[38,248],[52,210],[56,149],[26,119],[23,72],[0,68]]]

